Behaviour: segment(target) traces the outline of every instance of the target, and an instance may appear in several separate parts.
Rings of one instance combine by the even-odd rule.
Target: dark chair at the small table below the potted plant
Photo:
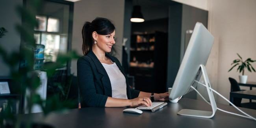
[[[231,89],[230,91],[245,91],[241,90],[239,87],[239,84],[237,81],[233,78],[228,78],[230,84],[231,84]],[[242,98],[234,98],[233,104],[236,105],[237,107],[242,107],[242,108],[250,108],[250,109],[256,109],[256,102],[249,102],[249,103],[241,103]]]

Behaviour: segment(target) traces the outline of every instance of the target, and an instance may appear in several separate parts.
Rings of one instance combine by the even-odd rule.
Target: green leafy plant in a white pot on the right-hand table
[[[239,57],[238,59],[235,59],[233,61],[233,63],[231,63],[232,68],[228,70],[228,72],[230,72],[230,70],[232,70],[234,67],[238,66],[237,71],[239,71],[239,73],[242,72],[242,75],[239,75],[239,82],[240,83],[246,83],[247,82],[247,75],[245,75],[245,69],[247,69],[249,72],[256,72],[255,69],[252,67],[251,63],[255,62],[256,60],[252,60],[251,58],[246,59],[245,61],[243,61],[243,59],[241,58],[241,56],[237,53],[237,56]]]

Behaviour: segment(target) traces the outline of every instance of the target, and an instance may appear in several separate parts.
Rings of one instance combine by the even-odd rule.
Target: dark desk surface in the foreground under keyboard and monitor
[[[221,109],[237,112],[232,106],[217,104]],[[180,116],[180,109],[210,111],[210,106],[201,100],[182,98],[179,103],[170,103],[154,113],[143,111],[141,115],[123,113],[124,108],[82,108],[72,109],[66,114],[51,114],[44,122],[55,128],[255,128],[256,121],[218,111],[212,119]],[[256,110],[241,108],[256,117]],[[237,112],[238,113],[238,112]],[[41,113],[34,113],[33,119],[40,121]],[[26,118],[26,115],[23,115]],[[40,121],[41,122],[41,121]]]

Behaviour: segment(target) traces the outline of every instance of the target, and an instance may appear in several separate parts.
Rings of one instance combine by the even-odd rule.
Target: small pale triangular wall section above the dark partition
[[[200,9],[207,10],[209,9],[208,1],[209,0],[173,0],[182,4],[187,4],[189,6],[197,7]]]

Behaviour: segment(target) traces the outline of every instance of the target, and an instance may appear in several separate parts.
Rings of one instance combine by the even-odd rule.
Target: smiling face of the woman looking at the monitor
[[[108,35],[100,35],[93,32],[93,39],[97,42],[94,46],[100,48],[104,52],[111,52],[112,46],[115,44],[115,30]]]

